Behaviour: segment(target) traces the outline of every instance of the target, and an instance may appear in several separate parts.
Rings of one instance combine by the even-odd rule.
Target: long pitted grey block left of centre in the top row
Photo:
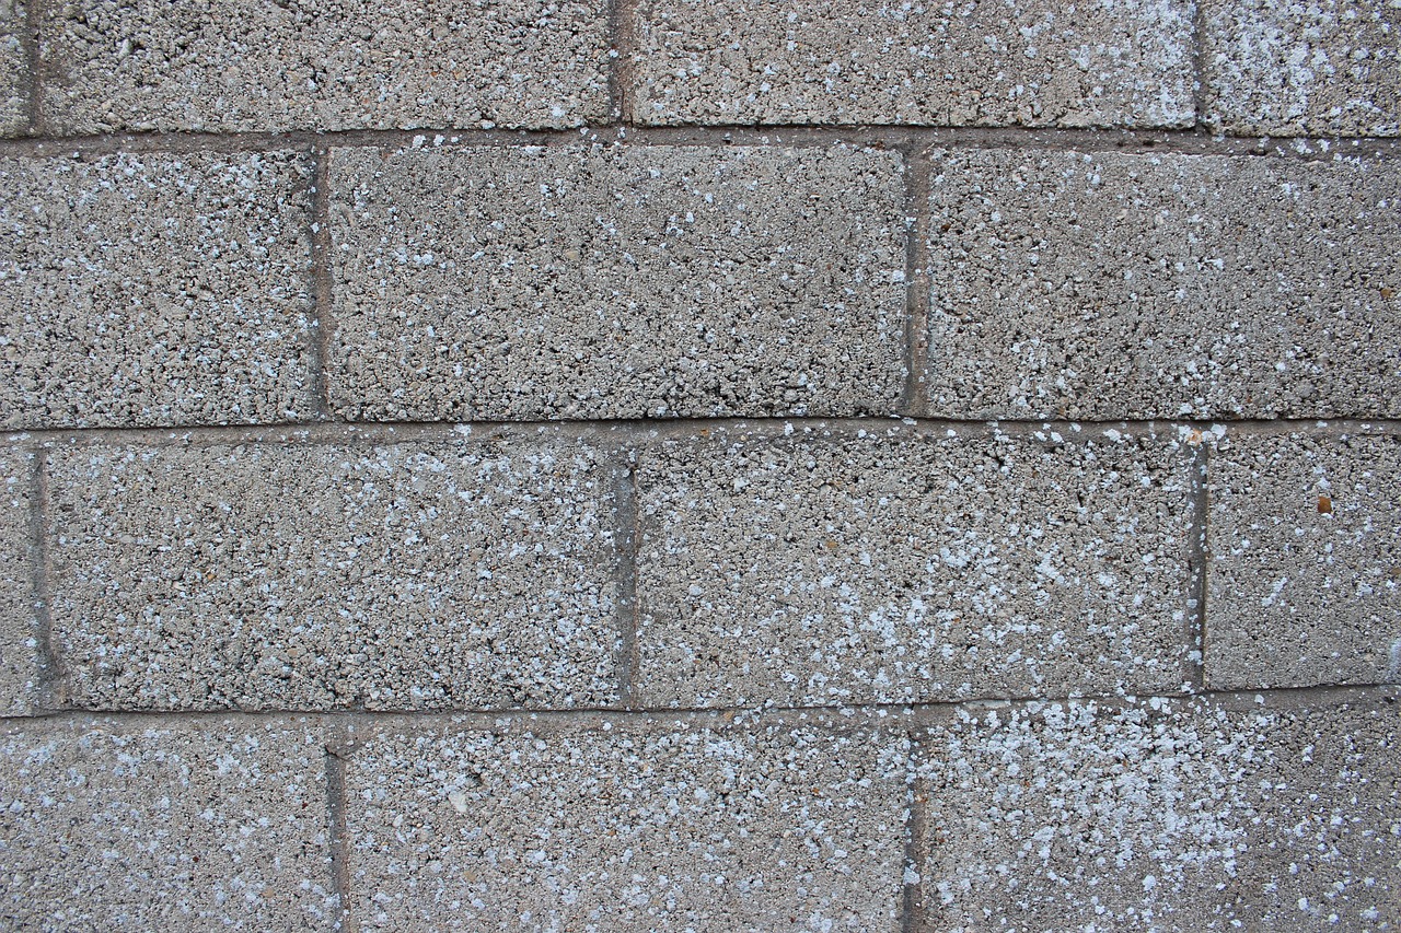
[[[59,133],[580,126],[608,113],[608,11],[535,0],[60,0]]]

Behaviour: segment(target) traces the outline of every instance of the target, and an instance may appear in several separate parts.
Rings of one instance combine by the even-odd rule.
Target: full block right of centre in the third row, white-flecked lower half
[[[1180,689],[1191,454],[1066,434],[835,427],[647,450],[639,702]]]

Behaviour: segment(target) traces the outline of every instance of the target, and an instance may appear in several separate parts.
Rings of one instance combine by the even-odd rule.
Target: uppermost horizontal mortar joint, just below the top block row
[[[1338,153],[1395,156],[1401,139],[1367,136],[1212,136],[1195,129],[1056,129],[1031,126],[902,125],[716,125],[637,126],[600,123],[573,129],[352,129],[287,132],[123,132],[90,136],[31,136],[0,140],[0,156],[108,153],[247,153],[311,147],[434,146],[876,146],[950,148],[1063,148],[1087,151],[1171,151],[1219,156],[1330,157]],[[1324,148],[1327,146],[1327,148]]]

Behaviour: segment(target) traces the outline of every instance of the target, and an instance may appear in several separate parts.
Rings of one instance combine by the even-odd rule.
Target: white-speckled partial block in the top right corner
[[[1212,129],[1274,136],[1401,133],[1401,3],[1202,0]]]

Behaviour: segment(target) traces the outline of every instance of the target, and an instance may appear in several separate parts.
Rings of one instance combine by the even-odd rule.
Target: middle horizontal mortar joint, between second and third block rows
[[[716,416],[716,417],[639,417],[639,419],[546,419],[546,420],[482,420],[482,422],[284,422],[269,424],[199,424],[175,427],[46,427],[11,429],[0,433],[0,438],[18,444],[34,443],[130,443],[165,445],[182,443],[241,443],[241,444],[297,444],[335,443],[347,440],[447,440],[472,434],[510,433],[538,434],[558,431],[579,434],[587,438],[601,438],[608,434],[630,437],[654,436],[657,438],[691,437],[706,431],[738,431],[786,436],[787,427],[804,431],[835,430],[894,430],[918,427],[925,431],[953,430],[971,436],[993,436],[996,433],[1024,434],[1035,431],[1062,433],[1073,440],[1086,431],[1122,430],[1133,434],[1173,434],[1182,429],[1201,431],[1224,427],[1230,431],[1248,434],[1324,434],[1356,431],[1401,431],[1397,417],[1281,417],[1281,419],[957,419],[957,417],[908,417],[899,415],[797,415],[797,416]],[[1079,429],[1079,430],[1076,430]]]

